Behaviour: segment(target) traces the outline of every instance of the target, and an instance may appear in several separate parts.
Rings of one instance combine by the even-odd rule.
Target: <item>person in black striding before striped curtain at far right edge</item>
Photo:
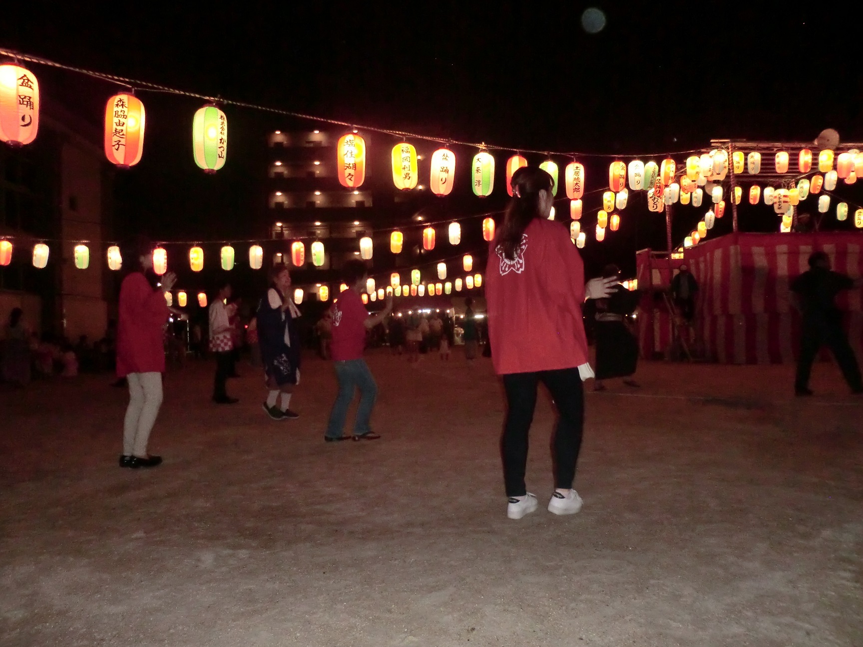
[[[860,287],[860,281],[831,271],[830,259],[824,252],[809,256],[809,270],[791,283],[791,292],[797,296],[797,306],[803,317],[797,379],[794,382],[797,395],[812,395],[809,374],[812,372],[812,362],[824,345],[836,358],[851,391],[863,393],[860,367],[842,330],[842,312],[835,304],[836,294],[854,287]]]

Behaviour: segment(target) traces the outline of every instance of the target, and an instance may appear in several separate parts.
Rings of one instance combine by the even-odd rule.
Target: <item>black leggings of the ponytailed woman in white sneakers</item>
[[[501,439],[503,480],[507,496],[527,493],[527,435],[537,404],[537,386],[545,384],[557,407],[559,418],[554,431],[555,487],[568,489],[576,478],[578,451],[582,447],[584,428],[584,390],[577,368],[560,368],[538,373],[511,373],[503,376],[507,392],[507,420]]]

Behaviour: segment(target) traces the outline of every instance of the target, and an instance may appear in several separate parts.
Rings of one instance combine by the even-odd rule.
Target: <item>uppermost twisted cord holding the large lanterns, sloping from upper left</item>
[[[148,81],[141,81],[137,79],[127,79],[125,77],[117,76],[116,74],[108,74],[105,72],[95,72],[93,70],[88,70],[83,67],[70,66],[65,63],[58,63],[54,60],[43,59],[41,56],[34,56],[32,54],[20,53],[15,50],[6,49],[4,47],[0,47],[0,55],[5,55],[12,57],[17,60],[26,60],[29,63],[37,63],[44,66],[55,67],[60,70],[66,70],[67,72],[75,72],[78,74],[83,74],[85,76],[89,76],[93,79],[101,79],[103,81],[107,81],[109,83],[120,85],[123,87],[128,87],[130,90],[142,90],[142,91],[152,91],[152,92],[165,92],[168,94],[175,94],[181,97],[192,97],[203,99],[204,101],[213,103],[213,104],[225,104],[225,105],[235,105],[239,108],[248,108],[250,110],[261,110],[262,112],[268,112],[274,115],[283,115],[283,116],[291,116],[297,119],[305,119],[312,122],[322,122],[322,123],[330,123],[335,126],[343,126],[344,128],[350,129],[363,129],[368,130],[370,132],[375,133],[383,133],[384,135],[393,135],[399,139],[406,139],[408,137],[412,139],[419,139],[424,141],[435,141],[439,144],[457,144],[459,146],[467,146],[470,148],[479,148],[485,150],[501,150],[501,151],[512,151],[518,150],[522,153],[533,153],[533,154],[542,154],[542,155],[560,155],[563,157],[612,157],[612,158],[620,158],[620,157],[656,157],[660,155],[682,155],[688,153],[706,153],[711,148],[690,148],[688,150],[680,150],[680,151],[661,151],[658,153],[627,153],[627,154],[606,154],[606,153],[583,153],[578,151],[550,151],[550,150],[537,150],[531,148],[513,148],[507,146],[496,146],[494,144],[486,144],[485,142],[476,142],[476,141],[459,141],[450,139],[449,137],[435,137],[431,135],[421,135],[419,133],[411,133],[404,130],[394,130],[394,129],[383,129],[376,128],[375,126],[365,126],[361,124],[357,124],[356,122],[343,122],[337,119],[330,119],[328,117],[322,116],[314,116],[314,115],[306,115],[301,112],[293,112],[291,110],[282,110],[280,108],[272,108],[270,106],[260,105],[260,104],[251,104],[246,101],[236,101],[235,99],[225,99],[223,97],[211,97],[205,94],[199,94],[198,92],[186,91],[186,90],[178,90],[177,88],[168,87],[167,85],[160,85],[155,83],[150,83]]]

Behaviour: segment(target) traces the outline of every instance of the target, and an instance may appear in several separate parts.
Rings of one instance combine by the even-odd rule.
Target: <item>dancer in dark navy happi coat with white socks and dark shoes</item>
[[[263,410],[274,420],[293,420],[299,413],[290,408],[294,386],[299,385],[299,309],[287,298],[291,273],[287,265],[270,269],[270,287],[258,305],[258,343],[269,393]],[[279,395],[281,394],[281,408]]]

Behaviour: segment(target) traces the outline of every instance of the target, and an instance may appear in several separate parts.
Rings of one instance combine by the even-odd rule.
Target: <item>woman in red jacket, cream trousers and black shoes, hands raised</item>
[[[123,267],[128,274],[120,286],[117,330],[117,377],[129,383],[129,407],[123,421],[121,468],[153,468],[161,456],[147,452],[150,431],[162,402],[165,348],[162,329],[167,324],[165,292],[177,280],[173,272],[153,272],[153,245],[138,236],[124,246]]]

